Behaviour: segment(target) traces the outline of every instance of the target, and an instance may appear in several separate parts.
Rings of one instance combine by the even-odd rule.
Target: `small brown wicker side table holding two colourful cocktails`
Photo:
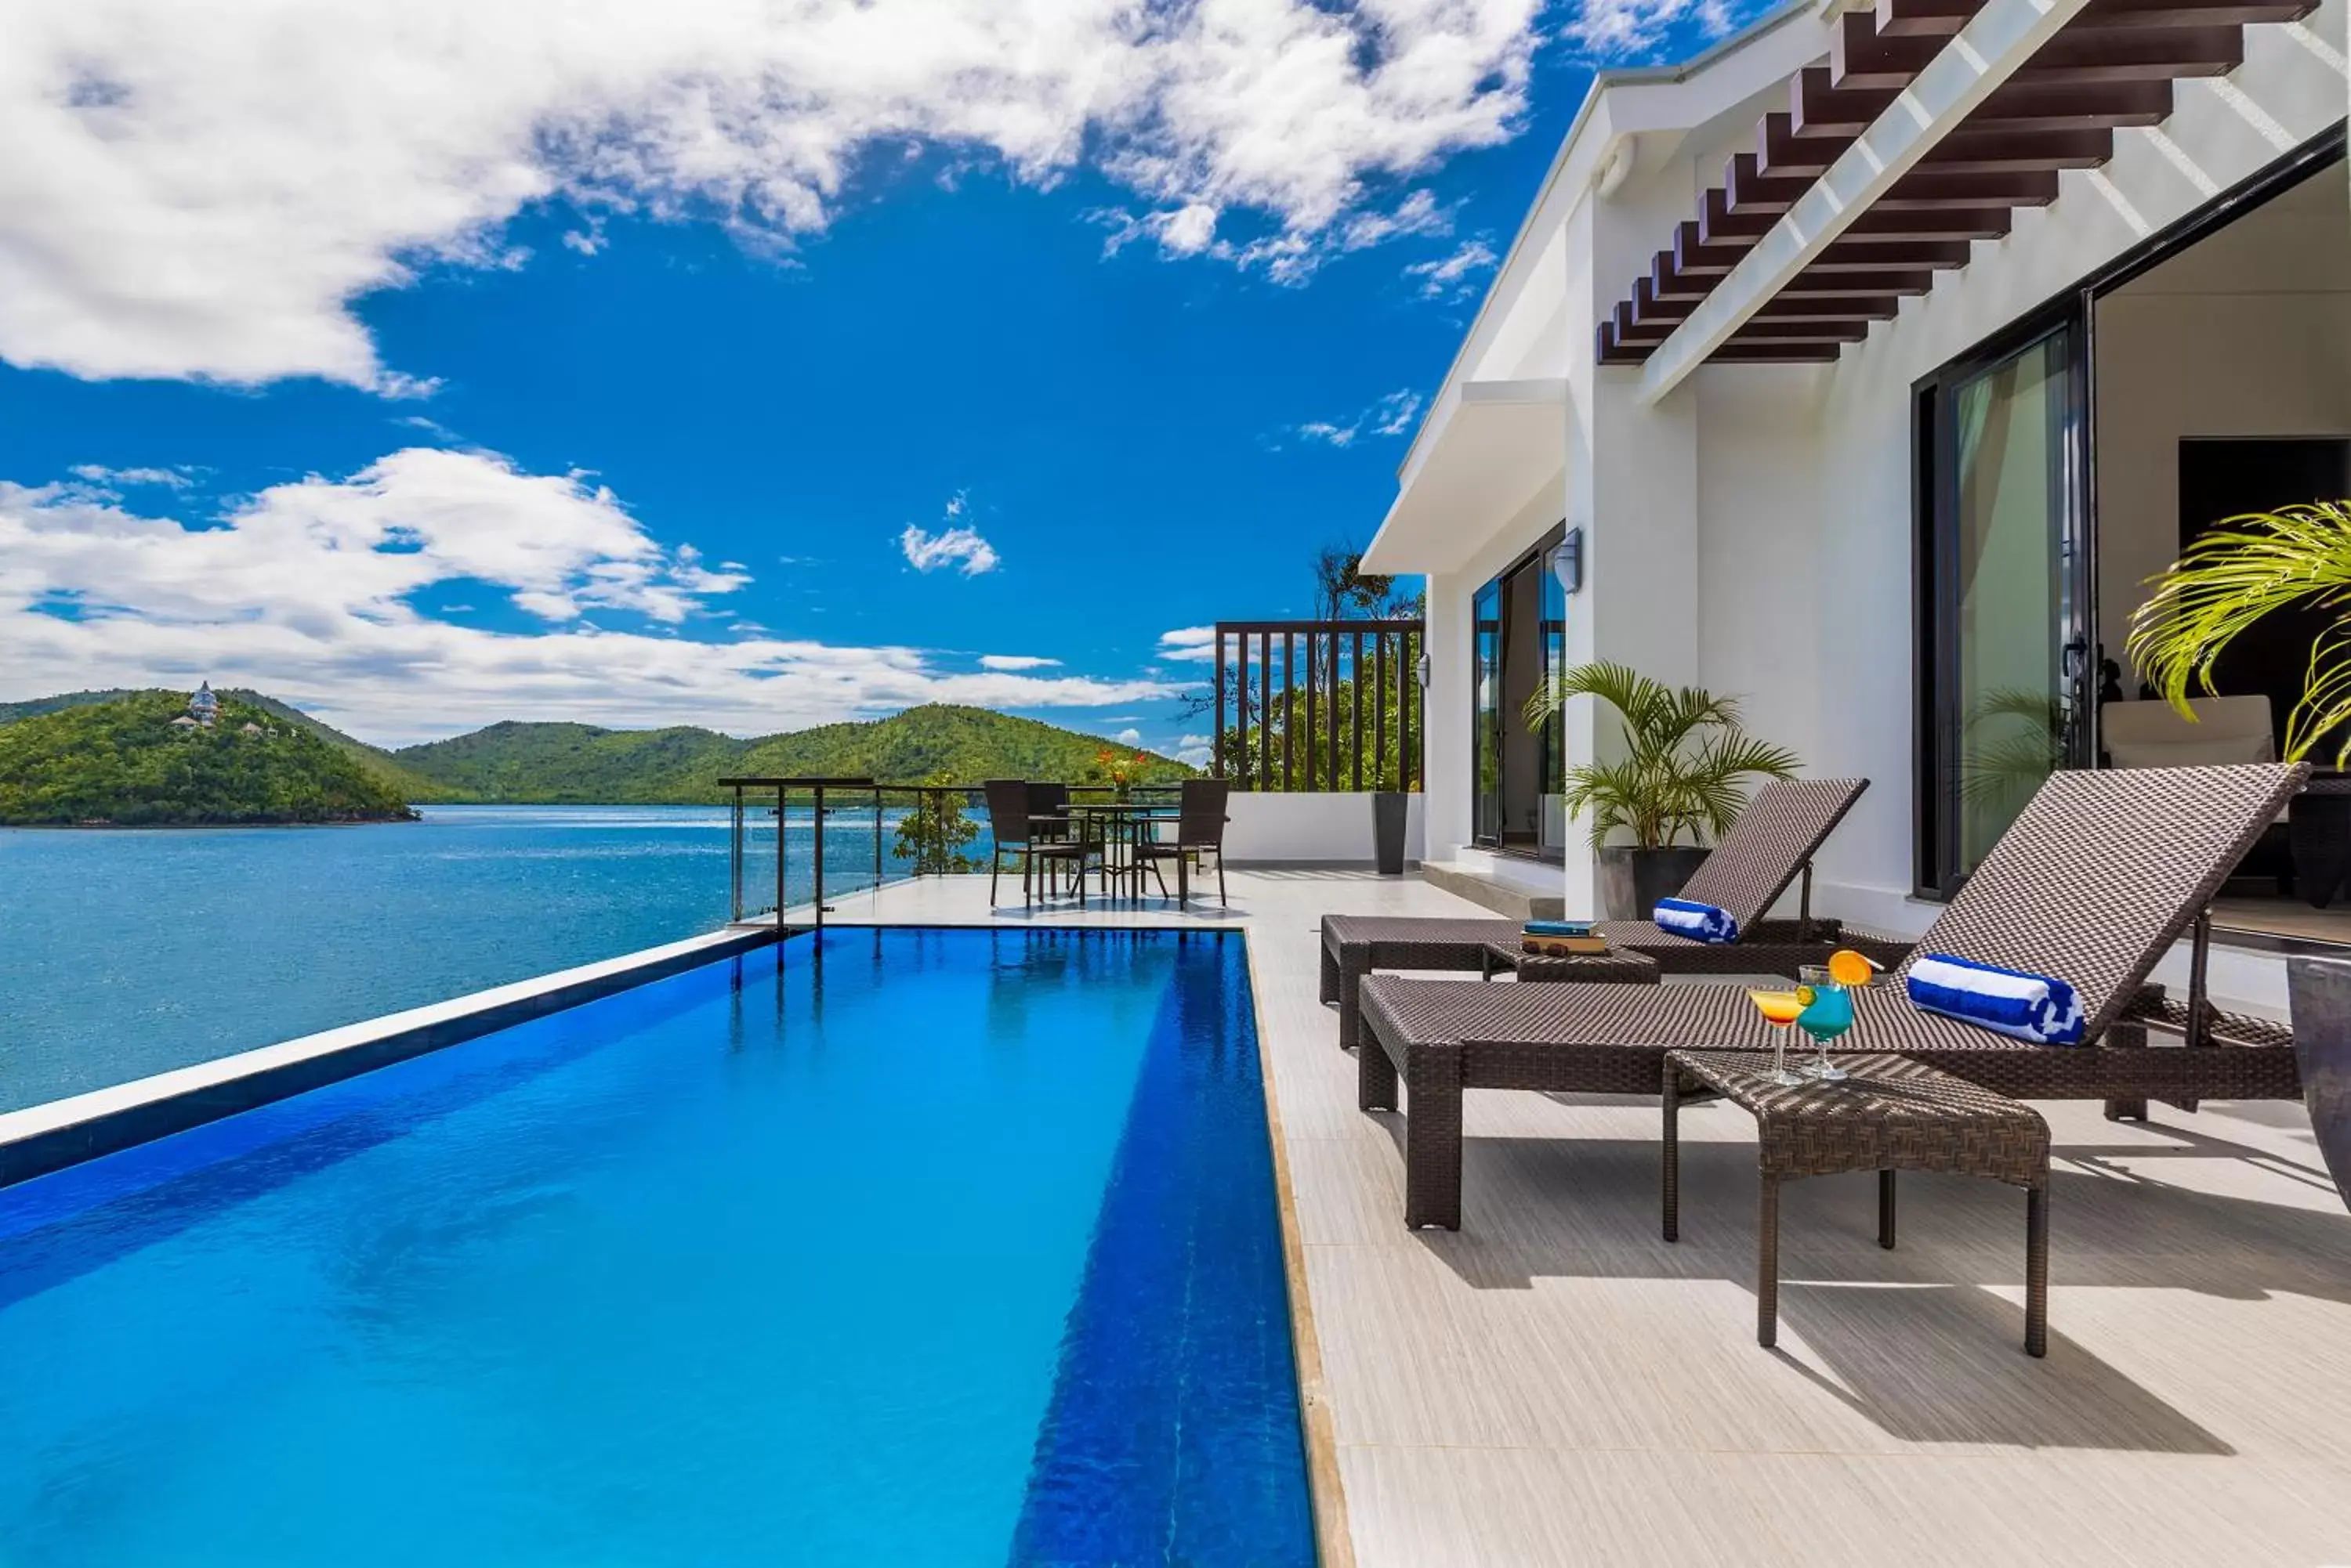
[[[1665,1239],[1681,1234],[1681,1107],[1730,1100],[1756,1119],[1756,1345],[1780,1338],[1780,1182],[1878,1173],[1878,1246],[1895,1244],[1895,1171],[1987,1175],[2024,1187],[2024,1354],[2048,1354],[2050,1128],[2029,1105],[1902,1056],[1838,1056],[1843,1084],[1773,1081],[1754,1051],[1665,1056]]]

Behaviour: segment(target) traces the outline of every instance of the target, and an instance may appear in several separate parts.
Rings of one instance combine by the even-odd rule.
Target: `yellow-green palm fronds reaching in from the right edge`
[[[2212,663],[2262,616],[2292,604],[2332,614],[2311,644],[2285,755],[2299,762],[2339,736],[2335,764],[2351,759],[2351,501],[2229,517],[2149,581],[2154,597],[2130,616],[2130,658],[2182,712],[2191,689],[2212,691]]]

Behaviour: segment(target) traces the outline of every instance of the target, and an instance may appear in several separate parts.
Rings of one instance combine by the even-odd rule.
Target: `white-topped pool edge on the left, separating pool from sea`
[[[190,1067],[0,1114],[0,1187],[169,1138],[531,1018],[776,945],[773,926],[724,926],[679,943],[256,1046]]]

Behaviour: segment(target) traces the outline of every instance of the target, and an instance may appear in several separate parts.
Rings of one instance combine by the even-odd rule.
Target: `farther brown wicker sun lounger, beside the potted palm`
[[[1794,973],[1838,947],[1834,919],[1813,919],[1813,856],[1867,778],[1770,778],[1740,811],[1730,832],[1681,889],[1683,898],[1730,910],[1740,922],[1735,943],[1697,943],[1660,931],[1646,919],[1599,924],[1608,947],[1650,959],[1667,976]],[[1796,919],[1763,919],[1789,884],[1803,877],[1803,912]],[[1378,969],[1483,966],[1488,943],[1516,943],[1516,919],[1429,919],[1396,914],[1324,914],[1321,999],[1338,1004],[1338,1044],[1359,1039],[1357,987]],[[1869,947],[1869,957],[1881,957]],[[1535,976],[1526,976],[1535,978]],[[1545,973],[1542,978],[1617,980],[1610,973]]]

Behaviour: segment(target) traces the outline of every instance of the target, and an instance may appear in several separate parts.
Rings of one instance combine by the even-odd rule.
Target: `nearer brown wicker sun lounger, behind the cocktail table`
[[[1918,952],[2069,980],[2085,1044],[2034,1046],[1923,1013],[1902,971],[1855,994],[1841,1046],[1893,1051],[2020,1100],[2299,1098],[2292,1037],[2203,999],[2205,905],[2302,788],[2304,766],[2116,769],[2052,776]],[[2184,1006],[2146,976],[2193,933]],[[1462,1091],[1653,1095],[1669,1048],[1768,1051],[1733,985],[1465,985],[1373,976],[1361,987],[1359,1103],[1406,1088],[1404,1220],[1460,1227]],[[2184,1048],[2139,1048],[2149,1030]]]

